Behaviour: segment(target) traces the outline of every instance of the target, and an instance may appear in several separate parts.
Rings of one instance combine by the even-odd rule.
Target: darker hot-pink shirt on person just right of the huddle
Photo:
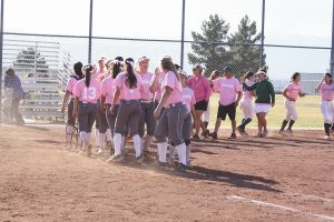
[[[194,90],[196,102],[208,101],[212,95],[212,88],[209,80],[204,77],[191,77],[187,80],[187,85]]]

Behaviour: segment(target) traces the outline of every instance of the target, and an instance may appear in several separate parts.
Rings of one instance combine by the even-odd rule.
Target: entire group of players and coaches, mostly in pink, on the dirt
[[[258,125],[256,137],[267,137],[266,115],[275,105],[275,91],[267,78],[267,67],[256,73],[247,72],[239,80],[234,77],[230,67],[225,67],[223,74],[214,71],[208,79],[200,64],[193,68],[193,75],[189,77],[170,57],[164,57],[154,73],[148,69],[147,57],[139,58],[137,63],[132,58],[124,60],[121,57],[112,60],[101,58],[97,65],[84,67],[77,62],[61,108],[62,112],[68,108],[67,148],[71,147],[78,122],[82,151],[90,157],[91,132],[96,123],[98,154],[102,154],[107,145],[114,152],[107,162],[124,159],[126,139],[131,137],[136,162],[141,163],[155,138],[159,165],[174,164],[177,154],[178,169],[187,169],[191,167],[190,141],[208,137],[217,139],[220,122],[227,115],[232,122],[228,139],[236,139],[236,131],[243,137],[248,135],[246,127],[254,114]],[[279,133],[293,133],[292,128],[297,120],[296,101],[305,95],[299,81],[301,74],[294,73],[283,92],[286,118]],[[330,140],[334,119],[334,84],[330,73],[325,74],[317,90],[322,97],[325,139]],[[213,93],[219,93],[219,104],[215,130],[210,133],[207,129],[208,105]],[[243,111],[243,121],[237,127],[238,105]]]

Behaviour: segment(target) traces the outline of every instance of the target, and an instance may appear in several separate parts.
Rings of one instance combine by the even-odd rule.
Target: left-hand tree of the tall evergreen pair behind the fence
[[[203,21],[200,29],[203,33],[191,32],[194,53],[188,53],[188,59],[190,64],[204,64],[206,75],[209,75],[213,70],[222,70],[229,61],[226,46],[223,44],[227,40],[229,24],[218,14],[212,14],[207,21]]]

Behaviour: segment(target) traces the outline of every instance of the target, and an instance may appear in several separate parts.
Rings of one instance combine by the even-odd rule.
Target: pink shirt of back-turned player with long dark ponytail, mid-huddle
[[[137,78],[137,87],[130,89],[126,80],[128,74],[126,72],[119,73],[116,78],[116,85],[120,89],[120,98],[121,100],[140,100],[140,90],[143,89],[143,80],[141,77],[135,73]]]

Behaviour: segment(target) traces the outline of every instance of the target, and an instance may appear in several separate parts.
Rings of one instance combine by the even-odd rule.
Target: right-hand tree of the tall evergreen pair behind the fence
[[[228,42],[230,44],[229,53],[232,56],[230,65],[234,73],[239,75],[247,71],[257,71],[261,63],[261,48],[254,46],[261,40],[261,34],[256,31],[256,22],[250,21],[245,16],[238,26],[238,30],[230,34]],[[265,61],[264,54],[264,61]]]

